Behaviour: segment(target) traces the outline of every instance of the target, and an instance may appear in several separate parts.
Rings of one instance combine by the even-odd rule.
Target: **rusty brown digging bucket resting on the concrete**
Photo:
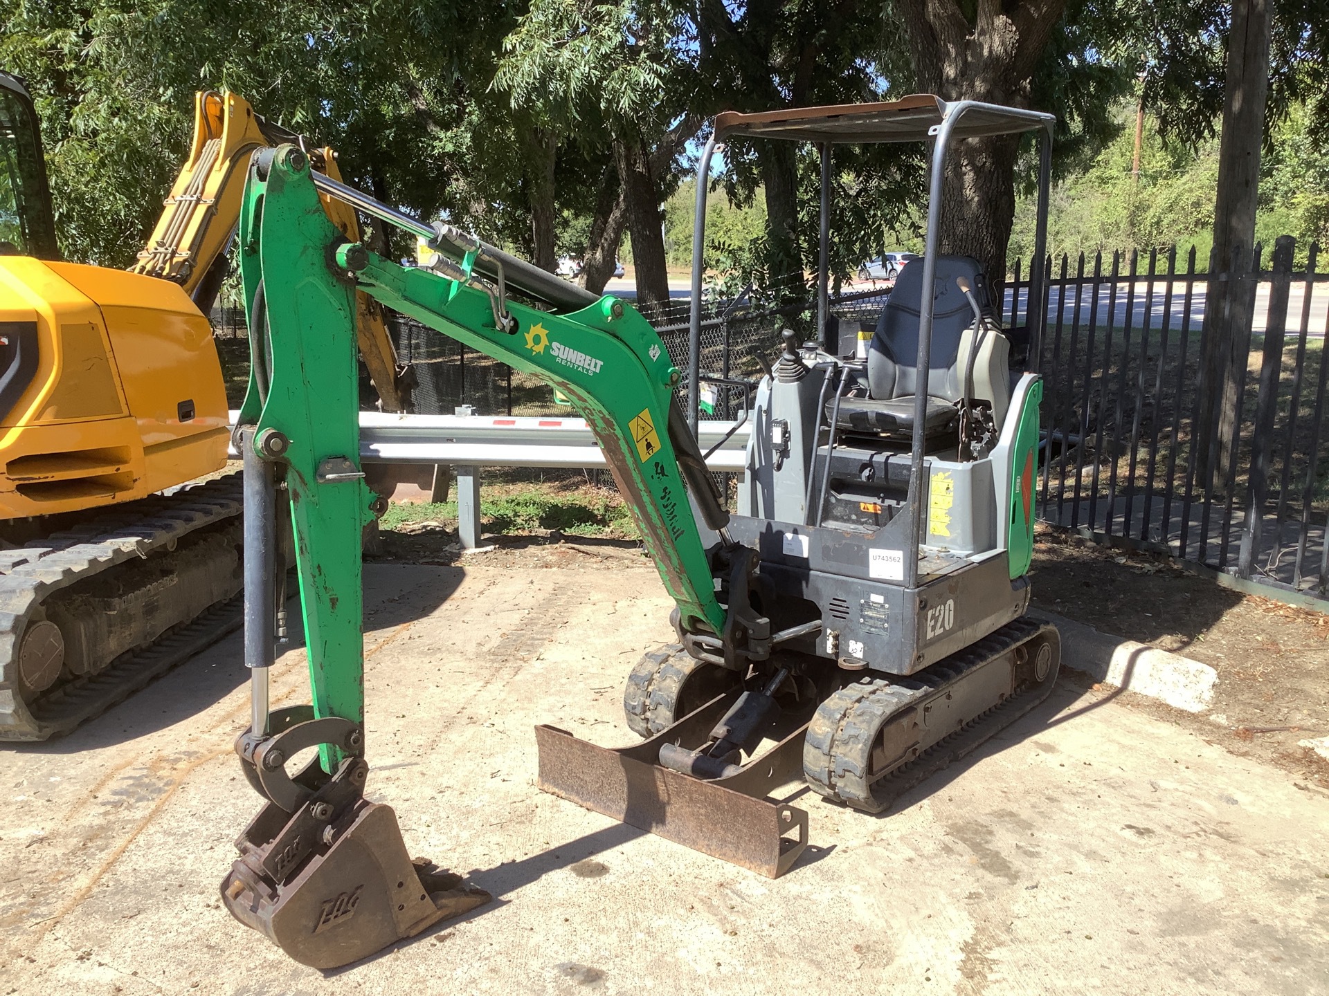
[[[460,875],[412,862],[391,806],[361,798],[323,825],[318,805],[291,815],[268,803],[222,880],[231,915],[296,961],[351,964],[492,899]]]

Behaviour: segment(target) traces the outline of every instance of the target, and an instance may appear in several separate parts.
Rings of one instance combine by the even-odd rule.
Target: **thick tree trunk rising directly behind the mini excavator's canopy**
[[[920,90],[946,101],[1029,106],[1030,80],[1066,0],[960,4],[896,0]],[[974,9],[970,23],[964,9]],[[1015,214],[1015,154],[1010,135],[954,142],[946,162],[938,232],[942,252],[974,256],[999,292]]]

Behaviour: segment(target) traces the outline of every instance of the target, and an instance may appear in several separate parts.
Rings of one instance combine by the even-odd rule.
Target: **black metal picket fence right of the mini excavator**
[[[1285,248],[1271,270],[1255,251],[1239,432],[1225,461],[1213,459],[1199,410],[1211,276],[1197,272],[1193,248],[1181,260],[1156,250],[1049,260],[1045,522],[1329,600],[1329,276],[1316,272],[1318,246],[1296,272]],[[1027,295],[1017,266],[1010,324],[1023,324]]]

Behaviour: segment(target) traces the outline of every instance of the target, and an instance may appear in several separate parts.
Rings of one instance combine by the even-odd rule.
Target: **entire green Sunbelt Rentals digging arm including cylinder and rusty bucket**
[[[320,178],[320,186],[342,199],[356,194],[335,181]],[[674,401],[679,373],[655,331],[617,299],[570,293],[557,278],[456,231],[441,238],[460,255],[444,272],[397,266],[348,232],[330,220],[299,147],[253,158],[239,222],[251,373],[237,437],[254,714],[237,753],[267,805],[238,841],[222,896],[242,923],[319,968],[364,957],[486,898],[456,876],[412,869],[392,810],[363,795],[360,535],[375,498],[359,458],[358,295],[567,394],[605,449],[680,628],[719,643],[728,622],[712,574],[712,560],[724,568],[724,544],[704,548],[688,491],[722,538],[727,518]],[[518,303],[512,288],[554,307]],[[286,517],[312,703],[270,710]],[[286,758],[311,746],[319,757],[288,774]]]

